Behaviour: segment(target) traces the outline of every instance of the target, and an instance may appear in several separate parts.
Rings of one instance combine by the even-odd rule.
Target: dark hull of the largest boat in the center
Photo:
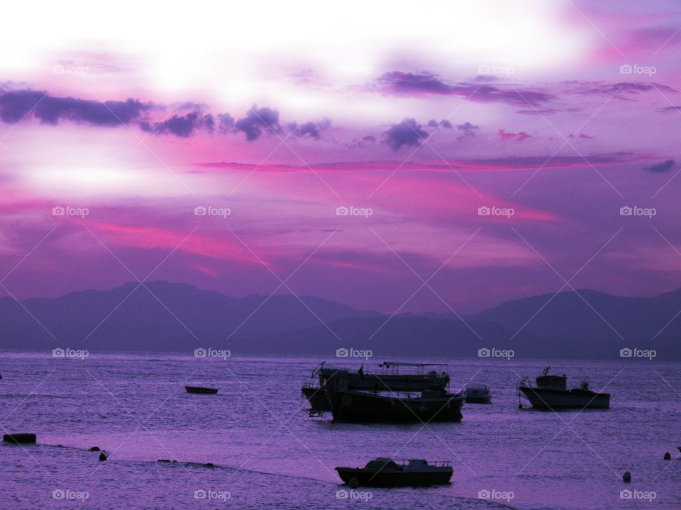
[[[460,421],[463,396],[404,398],[327,389],[333,421],[428,422]]]

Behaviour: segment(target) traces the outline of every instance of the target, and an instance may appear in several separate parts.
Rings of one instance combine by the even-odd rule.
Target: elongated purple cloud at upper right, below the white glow
[[[506,103],[514,106],[539,106],[555,99],[543,91],[531,89],[502,89],[487,83],[448,84],[430,72],[405,73],[387,72],[378,79],[384,94],[396,96],[419,96],[434,94],[441,96],[463,96],[477,103]]]

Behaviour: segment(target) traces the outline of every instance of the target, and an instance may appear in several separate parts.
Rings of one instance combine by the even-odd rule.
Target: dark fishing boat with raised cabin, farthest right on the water
[[[518,386],[520,395],[538,409],[607,409],[610,407],[610,394],[589,390],[589,381],[582,380],[578,388],[567,390],[566,375],[550,375],[549,367],[536,378],[536,386],[523,378]]]

